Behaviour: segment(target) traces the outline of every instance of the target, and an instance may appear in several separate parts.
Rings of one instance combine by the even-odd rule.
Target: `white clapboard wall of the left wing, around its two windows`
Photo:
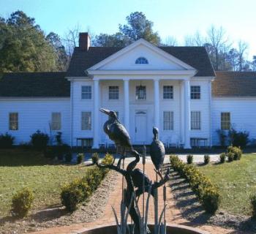
[[[9,130],[9,113],[18,113],[18,131]],[[8,132],[15,137],[15,144],[28,143],[30,135],[39,129],[50,135],[51,113],[61,113],[62,139],[69,143],[70,99],[0,99],[0,134]]]

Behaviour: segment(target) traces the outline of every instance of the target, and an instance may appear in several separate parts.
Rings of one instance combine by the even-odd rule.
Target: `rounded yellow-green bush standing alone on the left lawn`
[[[31,189],[24,188],[16,192],[12,197],[12,208],[11,213],[14,216],[23,218],[29,213],[32,203],[34,200],[34,195]]]

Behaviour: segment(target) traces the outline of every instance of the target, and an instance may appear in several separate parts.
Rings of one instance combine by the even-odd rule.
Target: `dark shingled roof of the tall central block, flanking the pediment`
[[[204,47],[159,47],[170,53],[177,59],[184,61],[197,69],[196,76],[215,76],[208,53]],[[103,59],[108,58],[113,53],[122,48],[115,47],[90,47],[88,51],[75,48],[72,59],[67,70],[68,77],[85,76],[85,70],[94,66]]]

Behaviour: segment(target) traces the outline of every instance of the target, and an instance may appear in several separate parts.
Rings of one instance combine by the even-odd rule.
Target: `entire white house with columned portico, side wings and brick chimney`
[[[219,144],[234,126],[256,138],[256,73],[214,72],[203,47],[90,46],[80,33],[67,72],[6,73],[0,80],[0,133],[28,142],[37,129],[62,132],[70,146],[108,146],[102,131],[115,110],[132,143],[150,144],[152,127],[168,146]]]

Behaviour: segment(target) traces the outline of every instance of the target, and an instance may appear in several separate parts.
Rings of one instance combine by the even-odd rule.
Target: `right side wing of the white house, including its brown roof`
[[[212,135],[214,146],[220,145],[219,130],[227,135],[233,128],[249,132],[256,139],[256,73],[216,72],[212,89]]]

